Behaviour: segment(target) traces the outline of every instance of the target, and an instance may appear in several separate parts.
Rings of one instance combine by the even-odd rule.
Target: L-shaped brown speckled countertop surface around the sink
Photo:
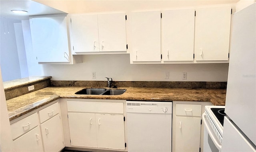
[[[10,121],[58,98],[76,99],[124,99],[150,101],[206,101],[213,105],[225,105],[226,89],[188,89],[188,88],[134,88],[125,87],[122,95],[77,95],[75,92],[91,88],[47,87],[7,100]]]

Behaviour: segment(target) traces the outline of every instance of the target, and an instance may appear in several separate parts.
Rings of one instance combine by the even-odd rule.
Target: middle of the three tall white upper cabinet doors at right
[[[194,60],[194,14],[194,9],[162,11],[164,61]]]

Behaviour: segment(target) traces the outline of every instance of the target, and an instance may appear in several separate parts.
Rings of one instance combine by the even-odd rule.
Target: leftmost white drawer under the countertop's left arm
[[[38,115],[37,113],[34,113],[24,119],[21,119],[20,121],[14,123],[11,125],[11,131],[12,131],[12,139],[17,138],[18,136],[27,133],[34,127],[38,126]]]

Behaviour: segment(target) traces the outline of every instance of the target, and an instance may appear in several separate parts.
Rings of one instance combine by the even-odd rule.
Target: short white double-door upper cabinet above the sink
[[[126,51],[126,14],[71,14],[74,54]]]

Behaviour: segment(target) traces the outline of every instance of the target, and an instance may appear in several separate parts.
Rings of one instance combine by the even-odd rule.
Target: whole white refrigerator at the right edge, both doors
[[[233,19],[222,152],[256,152],[256,3]]]

